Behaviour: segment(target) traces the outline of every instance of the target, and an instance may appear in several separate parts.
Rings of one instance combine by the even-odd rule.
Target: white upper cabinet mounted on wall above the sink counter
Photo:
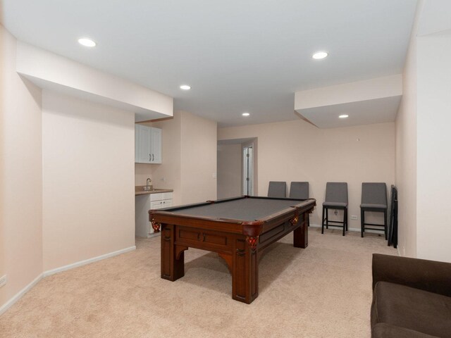
[[[161,163],[161,129],[135,124],[135,163]]]

